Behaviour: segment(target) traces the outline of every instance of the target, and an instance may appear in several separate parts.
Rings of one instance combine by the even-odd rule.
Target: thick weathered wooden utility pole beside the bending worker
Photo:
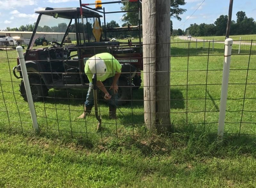
[[[153,132],[170,131],[170,0],[143,0],[144,120]]]

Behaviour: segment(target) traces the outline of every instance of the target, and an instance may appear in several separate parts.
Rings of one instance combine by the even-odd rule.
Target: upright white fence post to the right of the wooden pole
[[[229,69],[231,62],[231,51],[232,51],[233,39],[227,38],[225,40],[225,60],[223,65],[223,75],[222,75],[222,86],[221,86],[221,98],[220,98],[220,109],[219,109],[219,119],[218,119],[218,138],[222,138],[224,134],[224,123],[226,115],[226,105],[227,105],[227,88],[228,88],[228,78]]]

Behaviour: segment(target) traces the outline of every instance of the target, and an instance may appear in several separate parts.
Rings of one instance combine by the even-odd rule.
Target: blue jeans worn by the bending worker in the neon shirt
[[[109,90],[110,86],[113,83],[113,77],[106,79],[103,84],[106,88],[106,90],[109,92],[109,94],[112,96],[110,100],[108,101],[109,106],[117,106],[118,105],[118,93],[114,94],[113,89]],[[86,101],[84,102],[85,106],[93,106],[94,105],[94,100],[93,100],[93,85],[90,82],[89,83],[89,90],[86,96]]]

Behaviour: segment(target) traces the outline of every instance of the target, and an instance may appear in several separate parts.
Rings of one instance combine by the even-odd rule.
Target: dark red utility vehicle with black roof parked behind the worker
[[[141,86],[140,71],[143,70],[140,20],[135,27],[108,28],[105,14],[115,12],[105,12],[105,8],[100,6],[122,2],[138,4],[138,7],[140,3],[138,0],[97,2],[94,4],[97,5],[96,8],[90,8],[88,6],[93,4],[80,2],[80,7],[76,8],[46,7],[36,11],[39,14],[38,20],[25,52],[25,62],[35,102],[47,97],[48,90],[52,88],[88,88],[89,80],[84,73],[85,62],[95,54],[104,52],[113,54],[122,65],[122,74],[118,81],[118,105],[125,104],[131,99],[131,88],[136,89]],[[139,10],[138,8],[133,11]],[[103,22],[101,22],[102,18]],[[46,25],[47,23],[50,25]],[[48,45],[42,33],[51,40],[49,43],[51,46],[34,48],[34,44]],[[120,33],[120,35],[132,33],[132,36],[137,36],[139,41],[133,43],[129,40],[109,41],[109,33]],[[64,45],[68,35],[70,37],[74,35],[72,37],[75,38],[76,43]],[[20,75],[17,75],[17,71]],[[16,78],[23,77],[18,59],[13,74]],[[23,80],[20,91],[26,100]]]

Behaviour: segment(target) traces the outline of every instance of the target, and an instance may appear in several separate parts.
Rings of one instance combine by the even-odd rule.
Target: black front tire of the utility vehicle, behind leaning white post
[[[30,90],[31,90],[31,94],[34,102],[42,101],[44,97],[48,96],[48,89],[44,85],[43,81],[42,83],[40,82],[39,78],[29,78],[29,83],[30,83]],[[25,84],[23,80],[21,80],[20,92],[24,100],[28,101],[26,90],[25,90]]]

